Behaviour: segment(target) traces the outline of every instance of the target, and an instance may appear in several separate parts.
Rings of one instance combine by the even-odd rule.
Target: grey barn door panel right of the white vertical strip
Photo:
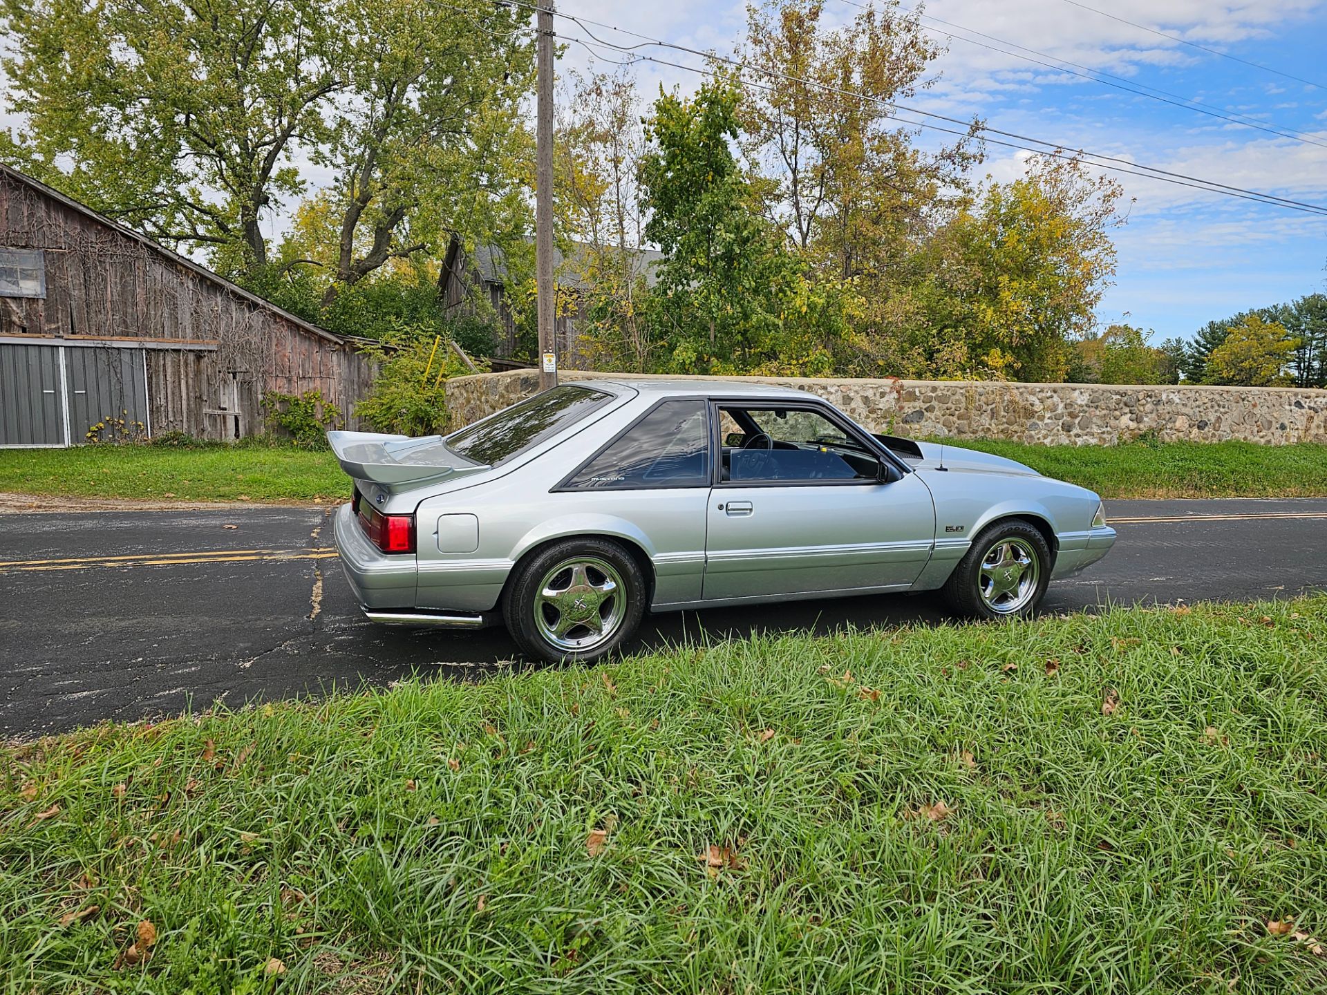
[[[147,434],[145,364],[142,349],[65,349],[72,442],[85,442],[94,425],[106,425],[104,439],[121,438],[111,431],[109,419],[123,419],[123,430],[131,436]]]

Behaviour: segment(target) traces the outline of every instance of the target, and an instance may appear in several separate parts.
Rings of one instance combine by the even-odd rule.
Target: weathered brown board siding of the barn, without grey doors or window
[[[145,356],[154,434],[232,438],[234,415],[208,414],[223,407],[239,411],[243,434],[256,434],[265,429],[265,393],[308,390],[322,391],[358,427],[353,409],[376,366],[344,340],[249,300],[4,167],[0,222],[0,245],[41,248],[46,257],[46,297],[0,298],[0,336],[158,346]],[[174,342],[191,348],[171,349]]]

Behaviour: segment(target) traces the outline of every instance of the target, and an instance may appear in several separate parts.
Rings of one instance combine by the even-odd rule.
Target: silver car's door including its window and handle
[[[876,450],[828,407],[717,405],[705,600],[892,590],[930,559],[936,511],[916,474],[877,479]],[[763,438],[762,438],[763,436]]]

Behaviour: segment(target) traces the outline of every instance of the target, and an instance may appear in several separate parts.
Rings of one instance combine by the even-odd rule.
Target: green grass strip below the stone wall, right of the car
[[[997,439],[934,439],[1016,459],[1103,498],[1323,498],[1327,446],[1251,442],[1136,442],[1028,446]]]

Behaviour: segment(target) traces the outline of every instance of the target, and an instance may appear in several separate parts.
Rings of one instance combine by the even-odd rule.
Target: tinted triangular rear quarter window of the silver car
[[[709,487],[703,401],[665,401],[567,480],[577,490]]]

